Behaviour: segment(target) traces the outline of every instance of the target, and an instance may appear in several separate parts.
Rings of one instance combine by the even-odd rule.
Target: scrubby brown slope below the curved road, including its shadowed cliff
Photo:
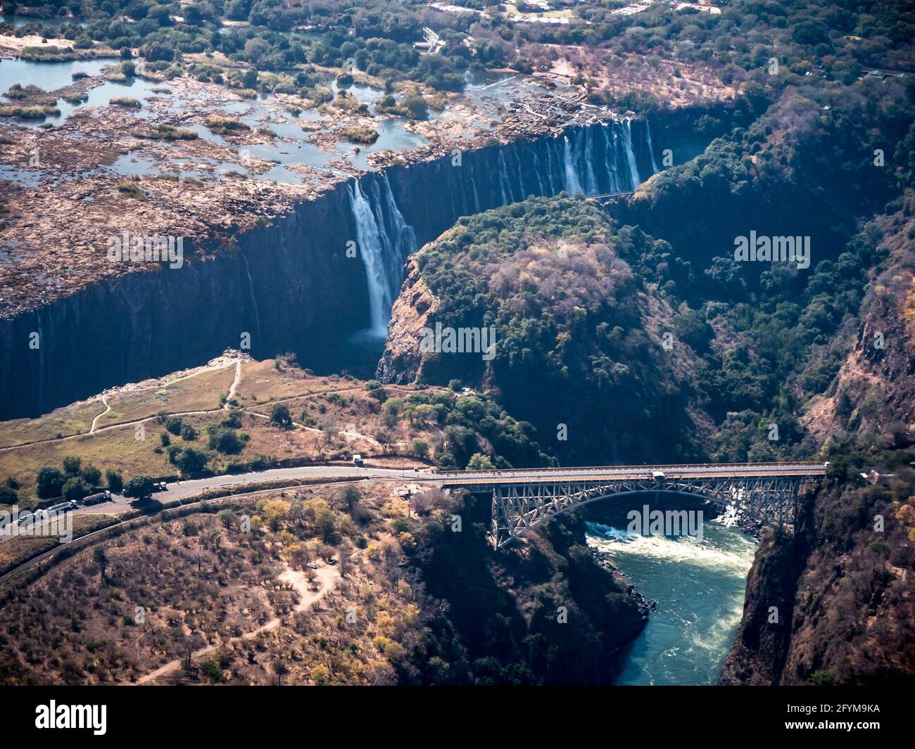
[[[79,551],[5,591],[0,683],[612,678],[646,613],[577,545],[580,527],[551,523],[497,556],[480,522],[488,502],[432,490],[411,511],[394,489],[278,490],[186,507],[183,518]]]

